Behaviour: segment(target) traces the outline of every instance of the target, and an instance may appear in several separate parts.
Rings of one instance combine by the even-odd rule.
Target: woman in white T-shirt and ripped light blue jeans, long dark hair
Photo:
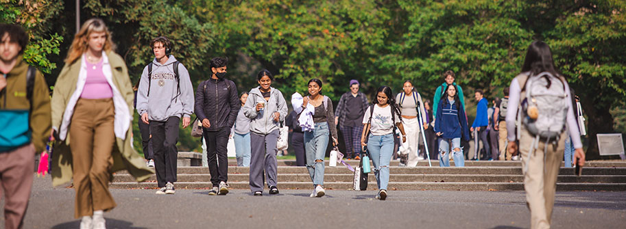
[[[402,133],[402,142],[407,142],[407,134],[402,126],[400,109],[392,96],[392,89],[387,86],[378,87],[374,105],[371,105],[363,116],[363,135],[361,146],[365,152],[368,146],[368,154],[374,163],[374,175],[378,194],[376,199],[387,198],[387,184],[389,184],[389,162],[394,154],[394,129],[398,126]],[[372,131],[372,135],[368,134]],[[365,137],[368,141],[365,142]]]

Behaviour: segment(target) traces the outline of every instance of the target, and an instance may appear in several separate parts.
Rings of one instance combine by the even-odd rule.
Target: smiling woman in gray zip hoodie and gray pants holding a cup
[[[252,88],[243,105],[243,114],[250,122],[250,190],[254,196],[263,196],[263,170],[270,194],[278,194],[276,142],[278,126],[287,116],[287,103],[282,93],[272,85],[274,77],[268,70],[256,75],[258,87]]]

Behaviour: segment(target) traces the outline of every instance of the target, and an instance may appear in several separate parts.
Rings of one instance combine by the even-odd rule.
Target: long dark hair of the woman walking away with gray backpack
[[[550,46],[546,44],[546,42],[542,42],[540,40],[536,40],[528,46],[526,58],[524,59],[524,65],[522,65],[522,72],[531,72],[530,75],[538,75],[541,72],[549,72],[555,77],[559,77],[561,75],[554,64],[554,59],[552,59]],[[546,77],[546,80],[548,81],[547,87],[550,87],[551,82],[548,77]],[[524,91],[525,88],[526,85],[522,87],[522,91]]]

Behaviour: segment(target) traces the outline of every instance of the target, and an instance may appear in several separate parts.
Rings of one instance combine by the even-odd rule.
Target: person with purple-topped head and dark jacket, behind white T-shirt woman
[[[346,159],[359,160],[361,155],[361,133],[363,133],[363,113],[368,109],[368,98],[359,92],[360,83],[356,79],[350,80],[350,91],[341,95],[337,110],[335,110],[335,123],[339,124],[339,130],[344,134],[346,142]]]

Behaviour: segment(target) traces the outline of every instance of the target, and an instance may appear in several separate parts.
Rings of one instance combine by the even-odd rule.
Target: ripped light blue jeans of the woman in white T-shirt
[[[394,134],[370,135],[368,138],[368,153],[374,163],[374,176],[378,189],[387,190],[389,184],[389,161],[394,155]]]

